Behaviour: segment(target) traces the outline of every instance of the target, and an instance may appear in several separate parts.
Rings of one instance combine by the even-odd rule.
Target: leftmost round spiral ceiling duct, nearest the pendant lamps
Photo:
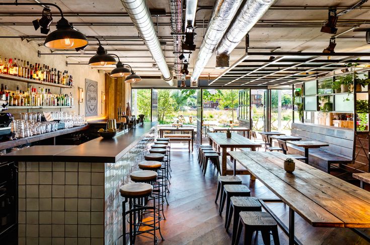
[[[151,12],[146,5],[145,0],[121,0],[123,7],[125,7],[127,14],[135,25],[146,47],[152,54],[159,69],[162,72],[163,79],[172,86],[173,75],[171,74],[163,54],[161,44],[157,37],[156,29],[152,21]]]

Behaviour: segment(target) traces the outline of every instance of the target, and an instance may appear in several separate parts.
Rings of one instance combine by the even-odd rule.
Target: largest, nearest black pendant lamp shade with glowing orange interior
[[[73,29],[72,24],[61,18],[56,30],[47,35],[44,45],[50,49],[76,49],[88,45],[84,34]]]

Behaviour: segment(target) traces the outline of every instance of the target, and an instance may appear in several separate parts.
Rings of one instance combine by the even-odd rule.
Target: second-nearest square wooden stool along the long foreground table
[[[234,213],[234,222],[233,222],[233,236],[231,244],[234,244],[237,237],[237,229],[239,222],[239,213],[242,211],[262,211],[262,205],[256,197],[243,197],[243,196],[233,196],[230,198],[231,206],[229,211],[228,219],[225,220],[225,228],[228,231],[231,223],[231,218]]]

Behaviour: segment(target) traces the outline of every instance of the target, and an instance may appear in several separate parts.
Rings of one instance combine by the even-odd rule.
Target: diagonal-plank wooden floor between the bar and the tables
[[[168,195],[168,206],[165,207],[167,220],[161,222],[165,238],[159,244],[231,244],[231,230],[225,230],[225,211],[218,215],[218,203],[214,203],[217,175],[213,165],[208,166],[203,176],[197,162],[197,149],[192,154],[187,145],[172,144],[171,166],[172,178]],[[250,181],[249,176],[240,176],[243,184],[251,189],[251,195],[259,198],[276,197],[258,180]],[[269,203],[274,213],[288,223],[288,207],[283,203]],[[224,209],[225,210],[225,209]],[[366,232],[370,234],[370,229]],[[303,244],[370,244],[347,228],[314,228],[295,215],[295,236]],[[272,236],[271,236],[272,238]],[[280,244],[288,244],[287,236],[279,228]],[[153,244],[147,237],[139,237],[136,244]],[[244,244],[243,236],[239,244]],[[263,244],[262,237],[254,237],[254,244]],[[271,244],[273,241],[271,239]]]

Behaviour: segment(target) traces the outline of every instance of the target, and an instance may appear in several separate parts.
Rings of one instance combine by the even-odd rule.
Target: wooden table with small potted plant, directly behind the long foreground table
[[[234,151],[236,148],[251,148],[252,151],[255,151],[256,148],[261,147],[261,144],[236,133],[232,133],[231,138],[227,138],[226,133],[209,133],[208,138],[210,146],[213,146],[214,143],[221,149],[221,175],[233,174],[233,171],[227,172],[226,169],[228,148],[231,151]]]

